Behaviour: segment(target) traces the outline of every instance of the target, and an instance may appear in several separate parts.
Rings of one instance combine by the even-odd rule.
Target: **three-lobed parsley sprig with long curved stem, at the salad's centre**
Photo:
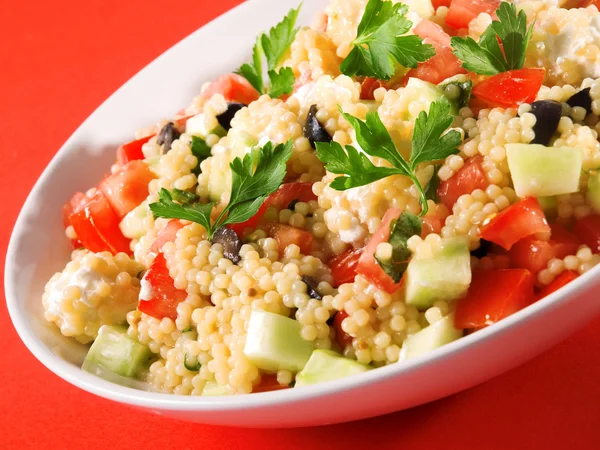
[[[338,175],[331,187],[344,191],[392,175],[409,177],[421,197],[422,212],[428,211],[427,193],[417,178],[417,166],[421,163],[439,161],[458,153],[462,142],[460,133],[456,130],[447,131],[452,125],[453,116],[450,114],[450,103],[446,98],[440,98],[431,104],[429,114],[421,111],[415,122],[412,137],[410,159],[407,161],[400,154],[389,132],[375,112],[367,114],[366,121],[342,112],[344,118],[356,132],[356,140],[362,152],[352,145],[342,146],[333,142],[317,142],[317,156],[325,164],[325,168]],[[363,153],[364,152],[364,153]],[[391,167],[379,167],[367,157],[386,160]]]

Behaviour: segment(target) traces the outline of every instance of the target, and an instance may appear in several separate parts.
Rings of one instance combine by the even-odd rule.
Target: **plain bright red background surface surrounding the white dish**
[[[73,130],[144,65],[239,2],[0,2],[1,264],[27,193]],[[598,319],[525,366],[450,398],[299,430],[189,424],[96,398],[29,354],[4,302],[0,342],[0,448],[600,448]]]

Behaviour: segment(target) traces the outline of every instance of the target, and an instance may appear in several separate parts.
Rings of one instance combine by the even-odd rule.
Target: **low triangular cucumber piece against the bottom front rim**
[[[315,350],[298,375],[296,386],[323,383],[366,372],[369,367],[332,350]]]

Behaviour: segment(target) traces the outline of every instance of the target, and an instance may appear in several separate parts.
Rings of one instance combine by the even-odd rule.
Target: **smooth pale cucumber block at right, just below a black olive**
[[[515,191],[523,197],[548,197],[579,190],[583,152],[571,147],[506,144]]]

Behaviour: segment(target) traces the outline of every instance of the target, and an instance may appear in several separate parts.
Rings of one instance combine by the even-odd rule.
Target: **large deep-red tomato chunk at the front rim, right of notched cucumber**
[[[535,300],[534,279],[524,269],[474,272],[467,295],[456,304],[454,326],[483,328],[525,308]]]

